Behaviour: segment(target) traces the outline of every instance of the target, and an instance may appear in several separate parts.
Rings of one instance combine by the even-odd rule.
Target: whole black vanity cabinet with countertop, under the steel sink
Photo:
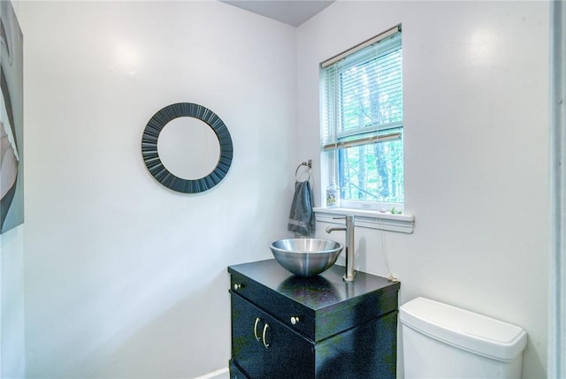
[[[230,266],[235,379],[394,378],[400,283],[344,268],[295,277],[275,260]]]

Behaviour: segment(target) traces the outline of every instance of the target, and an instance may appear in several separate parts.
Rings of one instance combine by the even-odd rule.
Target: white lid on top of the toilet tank
[[[494,360],[515,360],[527,345],[521,327],[431,299],[403,304],[399,319],[428,337]]]

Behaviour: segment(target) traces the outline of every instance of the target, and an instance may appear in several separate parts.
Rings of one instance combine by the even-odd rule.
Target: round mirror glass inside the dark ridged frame
[[[168,171],[189,180],[209,175],[220,158],[216,133],[194,117],[178,117],[167,123],[159,133],[157,150]]]

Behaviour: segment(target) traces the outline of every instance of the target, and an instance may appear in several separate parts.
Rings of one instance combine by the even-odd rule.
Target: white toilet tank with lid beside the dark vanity
[[[399,309],[405,379],[520,378],[526,332],[431,299]]]

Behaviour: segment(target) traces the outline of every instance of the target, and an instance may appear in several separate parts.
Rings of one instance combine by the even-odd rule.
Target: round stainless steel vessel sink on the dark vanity
[[[329,269],[343,247],[329,239],[279,239],[270,246],[275,260],[299,277],[314,277]]]

